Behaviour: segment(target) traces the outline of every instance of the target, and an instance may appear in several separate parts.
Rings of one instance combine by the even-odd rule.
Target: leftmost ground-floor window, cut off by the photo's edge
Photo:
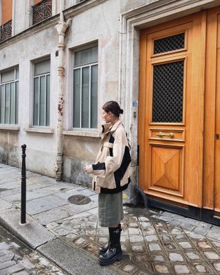
[[[19,68],[2,72],[0,85],[0,123],[18,123]]]

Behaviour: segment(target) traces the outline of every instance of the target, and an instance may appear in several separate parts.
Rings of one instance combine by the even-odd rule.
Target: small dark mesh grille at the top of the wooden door
[[[185,34],[177,34],[154,41],[153,54],[184,49]]]

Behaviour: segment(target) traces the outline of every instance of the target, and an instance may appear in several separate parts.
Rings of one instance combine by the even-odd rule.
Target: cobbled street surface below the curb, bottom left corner
[[[0,275],[64,275],[0,226]]]

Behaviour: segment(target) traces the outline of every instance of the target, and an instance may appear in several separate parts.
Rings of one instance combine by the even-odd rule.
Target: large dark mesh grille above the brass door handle
[[[184,61],[153,67],[153,122],[182,122]]]

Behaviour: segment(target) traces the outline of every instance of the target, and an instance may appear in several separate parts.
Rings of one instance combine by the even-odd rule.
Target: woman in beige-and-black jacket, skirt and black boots
[[[96,164],[84,166],[94,175],[93,189],[98,192],[99,225],[109,228],[109,242],[99,249],[100,265],[111,265],[122,259],[121,224],[124,218],[122,191],[130,182],[131,155],[126,131],[119,119],[123,110],[118,102],[109,101],[102,107],[102,140]]]

